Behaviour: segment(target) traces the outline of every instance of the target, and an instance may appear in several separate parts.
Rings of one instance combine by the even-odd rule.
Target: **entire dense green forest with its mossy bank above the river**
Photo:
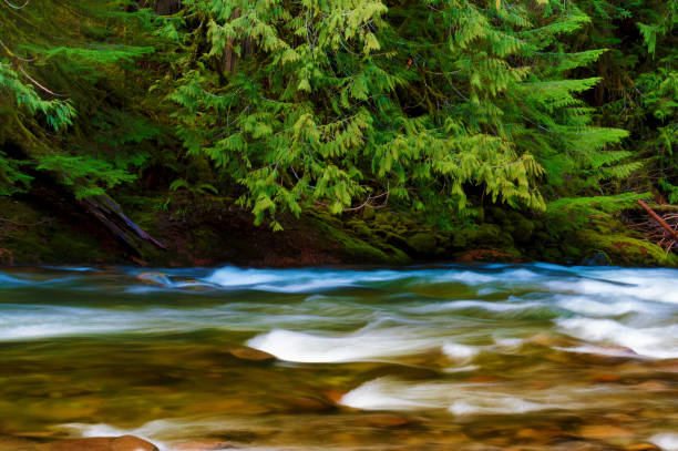
[[[677,265],[677,0],[3,0],[3,263]]]

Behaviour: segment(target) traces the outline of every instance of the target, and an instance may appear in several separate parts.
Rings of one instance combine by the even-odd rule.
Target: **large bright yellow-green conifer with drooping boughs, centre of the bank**
[[[627,133],[579,98],[599,79],[567,76],[604,52],[563,49],[588,22],[557,1],[189,0],[158,33],[183,42],[164,84],[177,136],[259,223],[387,201],[463,216],[477,191],[542,209],[543,177],[578,193],[628,176]]]

